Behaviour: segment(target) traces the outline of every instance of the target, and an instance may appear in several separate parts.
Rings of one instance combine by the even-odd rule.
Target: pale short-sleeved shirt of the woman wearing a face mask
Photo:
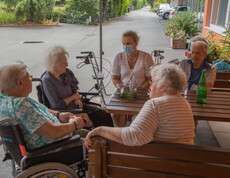
[[[150,76],[150,67],[153,65],[152,56],[144,51],[139,51],[137,62],[133,69],[129,68],[127,54],[119,53],[113,62],[112,75],[120,76],[123,85],[129,84],[130,80],[136,81],[137,87],[141,87]]]

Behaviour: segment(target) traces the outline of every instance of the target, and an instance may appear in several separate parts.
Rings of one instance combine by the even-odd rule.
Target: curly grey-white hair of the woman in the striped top
[[[166,87],[166,91],[181,92],[187,85],[184,71],[175,64],[155,65],[151,69],[151,76],[158,87]]]

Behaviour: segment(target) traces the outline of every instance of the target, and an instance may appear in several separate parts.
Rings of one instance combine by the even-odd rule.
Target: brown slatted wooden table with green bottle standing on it
[[[195,120],[230,122],[230,92],[211,91],[207,95],[207,103],[196,103],[196,92],[182,94],[190,103]],[[137,99],[129,100],[112,95],[106,111],[120,115],[120,126],[125,126],[126,115],[137,115],[144,103],[149,99],[147,89],[138,89]]]

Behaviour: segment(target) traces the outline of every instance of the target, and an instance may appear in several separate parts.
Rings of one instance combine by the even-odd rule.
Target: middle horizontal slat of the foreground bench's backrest
[[[141,157],[138,155],[135,157],[124,154],[119,155],[119,153],[115,155],[108,153],[107,161],[108,169],[110,166],[120,166],[189,176],[218,177],[220,174],[230,175],[230,167],[224,167],[223,165],[194,163],[189,161],[180,161],[176,159],[170,160],[150,156]]]

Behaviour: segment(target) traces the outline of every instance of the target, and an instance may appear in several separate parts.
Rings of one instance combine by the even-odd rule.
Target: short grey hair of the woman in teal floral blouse
[[[26,75],[27,66],[23,62],[15,62],[0,67],[0,92],[12,89],[17,80]]]

